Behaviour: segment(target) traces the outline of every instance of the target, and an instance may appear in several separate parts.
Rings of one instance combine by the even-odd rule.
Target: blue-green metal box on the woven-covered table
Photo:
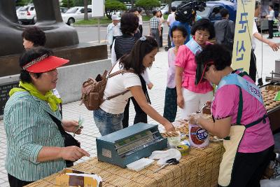
[[[167,148],[167,139],[161,136],[158,125],[147,123],[137,123],[96,141],[98,160],[120,167]]]

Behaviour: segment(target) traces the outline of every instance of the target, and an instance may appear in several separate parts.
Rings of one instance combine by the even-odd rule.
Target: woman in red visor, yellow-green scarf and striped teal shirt
[[[57,85],[57,67],[67,62],[42,47],[31,48],[20,57],[20,85],[10,90],[3,115],[6,170],[12,187],[59,172],[66,167],[65,160],[89,156],[78,146],[64,147],[57,125],[60,123],[67,132],[75,132],[78,127],[76,120],[62,120],[57,106],[62,100],[51,91]]]

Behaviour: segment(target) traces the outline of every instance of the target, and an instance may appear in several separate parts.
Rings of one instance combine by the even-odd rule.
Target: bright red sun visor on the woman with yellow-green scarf
[[[25,64],[25,66],[22,68],[31,73],[43,73],[51,71],[52,69],[56,69],[57,67],[61,67],[67,62],[69,62],[69,60],[66,60],[64,58],[59,58],[55,56],[42,56],[38,59],[32,60],[28,64]]]

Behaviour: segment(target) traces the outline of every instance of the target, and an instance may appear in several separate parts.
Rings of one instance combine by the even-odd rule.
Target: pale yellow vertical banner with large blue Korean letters
[[[254,13],[255,0],[237,0],[235,43],[232,51],[232,69],[249,71]]]

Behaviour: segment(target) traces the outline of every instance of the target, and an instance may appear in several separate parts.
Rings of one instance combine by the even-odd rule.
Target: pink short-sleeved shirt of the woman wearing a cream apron
[[[247,81],[253,83],[251,78],[244,76]],[[265,106],[258,99],[251,96],[246,90],[242,89],[243,113],[241,124],[249,124],[262,118],[265,115]],[[237,85],[224,85],[215,93],[211,111],[215,119],[232,117],[231,123],[237,123],[237,111],[239,103],[239,88]],[[269,148],[274,144],[272,130],[270,129],[269,119],[266,123],[258,123],[245,130],[243,139],[239,144],[239,153],[256,153]]]

